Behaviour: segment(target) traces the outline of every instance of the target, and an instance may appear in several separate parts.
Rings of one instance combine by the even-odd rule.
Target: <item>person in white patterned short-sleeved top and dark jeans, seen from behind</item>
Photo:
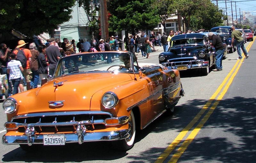
[[[23,76],[21,74],[21,72],[23,71],[23,67],[21,66],[20,61],[15,60],[16,59],[15,53],[11,53],[10,58],[11,58],[11,61],[8,63],[7,73],[10,74],[9,80],[12,81],[12,85],[13,85],[12,95],[14,95],[19,92],[18,87],[20,85],[20,81],[23,79]]]

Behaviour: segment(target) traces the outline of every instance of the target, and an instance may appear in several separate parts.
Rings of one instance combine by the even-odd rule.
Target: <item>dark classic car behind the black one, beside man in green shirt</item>
[[[227,44],[227,48],[228,48],[228,53],[233,53],[234,51],[236,51],[236,40],[233,43],[233,47],[231,47],[231,27],[229,26],[220,26],[220,27],[213,27],[211,29],[211,32],[217,32],[223,43]]]

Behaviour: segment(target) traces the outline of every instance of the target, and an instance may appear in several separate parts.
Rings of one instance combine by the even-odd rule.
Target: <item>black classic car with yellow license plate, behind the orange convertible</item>
[[[164,66],[177,70],[200,68],[207,75],[215,64],[214,51],[205,33],[176,35],[171,42],[169,50],[158,56]]]

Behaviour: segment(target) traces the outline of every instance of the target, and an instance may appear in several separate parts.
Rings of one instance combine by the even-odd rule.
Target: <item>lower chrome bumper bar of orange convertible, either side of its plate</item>
[[[109,141],[109,140],[120,140],[130,136],[130,130],[124,129],[119,131],[108,131],[108,132],[94,132],[94,133],[82,133],[80,134],[65,134],[66,143],[79,143],[92,142],[92,141]],[[5,145],[11,144],[44,144],[43,135],[34,136],[6,136],[2,138],[2,143]]]

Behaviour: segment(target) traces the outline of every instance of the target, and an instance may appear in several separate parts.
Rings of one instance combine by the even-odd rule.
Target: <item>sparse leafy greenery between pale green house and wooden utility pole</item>
[[[88,19],[88,26],[91,29],[92,35],[97,37],[100,31],[100,19],[97,15],[100,11],[97,0],[76,0],[78,6],[82,7]]]

